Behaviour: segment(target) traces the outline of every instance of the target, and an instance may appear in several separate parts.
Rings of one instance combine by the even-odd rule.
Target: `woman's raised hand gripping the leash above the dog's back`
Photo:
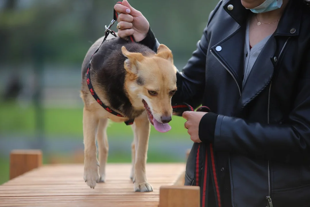
[[[117,21],[117,35],[121,38],[127,38],[133,35],[136,42],[143,40],[150,27],[148,20],[142,15],[142,13],[130,6],[127,0],[124,0],[122,4],[115,4],[115,11],[119,13]]]

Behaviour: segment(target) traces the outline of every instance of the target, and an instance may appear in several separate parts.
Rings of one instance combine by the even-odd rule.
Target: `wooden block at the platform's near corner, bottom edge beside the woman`
[[[161,186],[159,207],[200,207],[200,187]]]

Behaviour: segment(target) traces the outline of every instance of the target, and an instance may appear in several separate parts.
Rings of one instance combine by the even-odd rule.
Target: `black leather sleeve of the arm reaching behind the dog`
[[[215,9],[211,11],[208,24],[221,5],[221,2],[222,1],[219,1]],[[192,56],[183,70],[177,71],[177,92],[172,97],[172,105],[181,102],[185,102],[193,108],[197,108],[201,105],[206,84],[206,53],[209,46],[207,34],[208,26],[204,29],[201,39],[197,42],[196,50],[192,53]],[[147,37],[139,43],[148,46],[155,52],[157,52],[159,46],[159,42],[155,38],[151,28],[149,29]]]

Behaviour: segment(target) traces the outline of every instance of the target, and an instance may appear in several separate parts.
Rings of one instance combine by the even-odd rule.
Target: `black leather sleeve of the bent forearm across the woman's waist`
[[[305,60],[308,64],[299,75],[292,110],[281,124],[249,123],[224,115],[215,119],[208,113],[201,119],[199,137],[212,137],[213,133],[214,140],[207,141],[214,142],[215,151],[310,161],[310,50]]]

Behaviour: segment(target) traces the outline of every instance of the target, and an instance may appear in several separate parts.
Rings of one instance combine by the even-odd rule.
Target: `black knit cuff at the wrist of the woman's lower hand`
[[[201,142],[214,142],[214,131],[217,117],[218,114],[209,112],[201,118],[198,131]]]

